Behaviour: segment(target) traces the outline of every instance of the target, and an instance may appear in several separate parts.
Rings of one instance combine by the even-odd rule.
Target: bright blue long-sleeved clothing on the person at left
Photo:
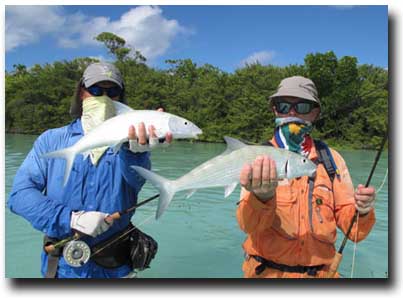
[[[130,167],[150,169],[149,153],[132,153],[123,145],[117,154],[108,149],[98,165],[77,155],[67,185],[63,186],[64,159],[45,159],[41,155],[74,145],[83,137],[80,119],[71,124],[50,129],[35,141],[19,168],[8,200],[10,210],[28,220],[31,225],[52,238],[64,239],[73,233],[70,228],[72,211],[101,211],[112,214],[137,202],[137,194],[145,180]],[[122,215],[104,234],[82,240],[90,246],[101,242],[127,227],[133,213]],[[47,270],[47,255],[42,253],[42,274]],[[125,276],[129,266],[104,269],[89,261],[74,268],[59,260],[59,278],[110,278]]]

